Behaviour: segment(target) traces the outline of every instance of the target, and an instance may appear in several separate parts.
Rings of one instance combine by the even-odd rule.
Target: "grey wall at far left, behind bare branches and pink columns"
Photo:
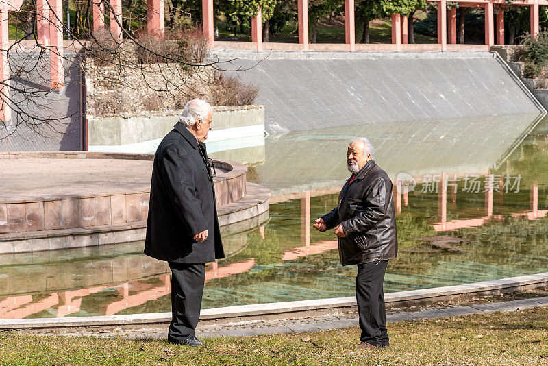
[[[11,97],[16,106],[12,106],[12,121],[0,122],[0,152],[82,150],[82,103],[85,100],[82,100],[81,60],[77,53],[70,51],[65,57],[65,86],[47,93],[49,52],[40,56],[37,52],[10,53]],[[28,100],[30,96],[33,101]],[[36,120],[18,114],[20,109]],[[42,124],[46,119],[52,121]]]

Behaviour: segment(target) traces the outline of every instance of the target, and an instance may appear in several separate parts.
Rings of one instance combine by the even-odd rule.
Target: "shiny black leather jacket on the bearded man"
[[[322,217],[327,229],[342,223],[347,237],[338,238],[340,263],[358,265],[396,258],[398,240],[392,182],[369,160],[350,178],[338,196],[338,206]]]

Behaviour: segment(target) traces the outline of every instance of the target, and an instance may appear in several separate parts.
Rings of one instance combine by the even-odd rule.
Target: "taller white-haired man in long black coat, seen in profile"
[[[156,150],[152,169],[145,254],[166,260],[173,274],[168,341],[202,345],[195,337],[205,265],[225,258],[217,221],[214,170],[203,141],[213,119],[211,106],[186,103],[178,122]]]

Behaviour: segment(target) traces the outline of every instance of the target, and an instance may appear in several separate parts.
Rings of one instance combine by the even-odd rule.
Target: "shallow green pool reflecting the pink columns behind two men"
[[[273,190],[269,215],[224,228],[229,256],[207,265],[203,308],[353,295],[356,266],[340,265],[333,232],[316,232],[312,221],[336,205],[354,136],[370,138],[379,166],[400,182],[399,256],[386,292],[548,271],[547,121],[313,130],[267,139],[266,162],[249,178]],[[142,248],[0,256],[0,318],[169,311],[169,269]]]

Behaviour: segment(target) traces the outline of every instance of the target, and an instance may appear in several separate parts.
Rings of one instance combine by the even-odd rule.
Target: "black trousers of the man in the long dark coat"
[[[171,269],[171,324],[168,341],[180,343],[194,337],[200,319],[206,264],[169,262]]]

